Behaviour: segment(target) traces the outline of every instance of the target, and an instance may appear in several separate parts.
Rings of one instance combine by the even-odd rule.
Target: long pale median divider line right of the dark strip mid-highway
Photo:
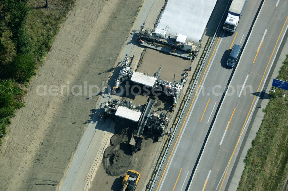
[[[245,45],[244,48],[243,48],[243,52],[244,52],[244,50],[246,49],[246,46],[247,46],[248,41],[249,41],[249,39],[250,39],[250,37],[251,37],[252,31],[253,31],[254,26],[255,26],[255,24],[256,24],[256,22],[257,22],[257,20],[258,20],[258,17],[259,17],[259,15],[260,15],[260,12],[261,12],[261,10],[262,10],[262,8],[263,8],[263,4],[265,3],[265,1],[266,1],[266,0],[263,1],[262,6],[261,6],[261,9],[260,9],[260,11],[259,11],[259,13],[258,13],[258,15],[257,15],[257,17],[256,17],[256,20],[255,20],[255,22],[254,22],[254,24],[253,24],[253,26],[252,26],[252,29],[251,29],[251,32],[250,32],[250,34],[249,34],[249,36],[248,36],[246,45]],[[235,71],[234,71],[234,74],[235,74],[236,71],[237,71],[237,68],[238,68],[238,66],[239,66],[240,60],[241,60],[241,58],[242,58],[242,55],[243,55],[243,54],[241,54],[241,56],[240,56],[240,59],[239,59],[239,61],[238,61],[238,64],[237,64],[236,69],[235,69]],[[230,83],[229,83],[229,85],[228,85],[228,88],[230,87],[230,84],[231,84],[233,78],[234,78],[234,75],[233,75],[232,78],[231,78],[231,81],[230,81]],[[227,90],[228,90],[228,88],[227,88]],[[221,105],[220,105],[220,107],[219,107],[218,113],[220,112],[220,109],[221,109],[222,104],[223,104],[223,102],[224,102],[224,100],[225,100],[225,98],[226,98],[226,95],[227,95],[227,94],[224,95],[224,98],[223,98],[223,101],[222,101],[222,103],[221,103]],[[199,159],[199,161],[198,161],[198,164],[200,163],[200,160],[201,160],[201,158],[202,158],[202,156],[203,156],[203,153],[204,153],[206,144],[207,144],[207,142],[208,142],[208,140],[209,140],[209,137],[210,137],[210,135],[211,135],[211,132],[212,132],[212,130],[213,130],[213,128],[214,128],[214,125],[215,125],[215,122],[216,122],[217,117],[218,117],[218,114],[216,115],[216,118],[215,118],[215,120],[214,120],[214,124],[212,125],[210,134],[208,135],[207,141],[206,141],[206,143],[205,143],[205,146],[204,146],[204,149],[203,149],[202,154],[201,154],[201,156],[200,156],[200,159]],[[194,175],[195,175],[195,173],[196,173],[196,171],[197,171],[197,169],[198,169],[198,164],[196,165],[194,174],[192,175],[192,179],[191,179],[191,181],[190,181],[190,185],[189,185],[189,187],[188,187],[188,191],[190,190],[190,187],[191,187],[191,185],[192,185],[192,181],[193,181],[193,179],[194,179]],[[226,170],[225,170],[225,171],[226,171]],[[220,181],[221,181],[221,180],[220,180]]]

